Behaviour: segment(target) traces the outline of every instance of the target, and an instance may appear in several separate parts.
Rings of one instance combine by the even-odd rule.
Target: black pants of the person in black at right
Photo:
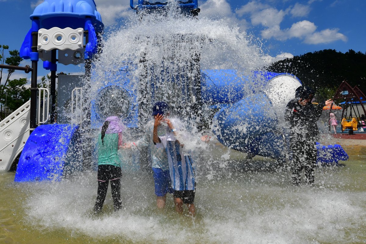
[[[317,162],[317,150],[313,139],[305,136],[296,135],[291,138],[292,150],[292,183],[301,183],[300,173],[304,170],[305,183],[314,184],[314,168]]]

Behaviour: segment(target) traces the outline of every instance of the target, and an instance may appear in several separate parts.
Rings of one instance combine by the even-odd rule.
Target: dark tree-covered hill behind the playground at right
[[[317,98],[331,98],[343,80],[366,92],[366,52],[346,53],[334,49],[309,52],[272,63],[268,71],[296,75],[303,85],[317,92]]]

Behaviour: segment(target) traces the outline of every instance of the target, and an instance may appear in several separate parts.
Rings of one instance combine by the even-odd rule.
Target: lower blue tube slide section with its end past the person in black
[[[232,149],[285,160],[286,144],[277,130],[278,121],[266,95],[248,95],[232,106],[222,108],[214,116],[213,132],[223,145]],[[347,160],[348,155],[338,145],[317,143],[317,164],[333,165]]]

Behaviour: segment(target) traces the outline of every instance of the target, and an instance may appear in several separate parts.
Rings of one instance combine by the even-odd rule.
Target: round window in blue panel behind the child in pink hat
[[[130,113],[130,95],[119,86],[108,86],[99,92],[96,108],[101,119],[112,115],[127,118]]]

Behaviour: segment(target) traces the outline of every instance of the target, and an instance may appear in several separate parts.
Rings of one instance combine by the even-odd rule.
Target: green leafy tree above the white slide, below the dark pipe
[[[27,84],[26,78],[9,80],[4,91],[6,93],[6,106],[10,111],[18,109],[30,98],[30,89],[24,85]]]

